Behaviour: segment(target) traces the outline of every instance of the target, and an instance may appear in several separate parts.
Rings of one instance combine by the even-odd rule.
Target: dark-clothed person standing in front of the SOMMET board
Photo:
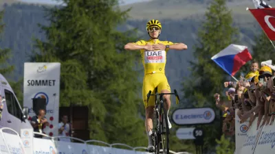
[[[50,125],[50,123],[47,122],[47,118],[45,118],[45,110],[39,110],[39,114],[32,117],[31,124],[34,128],[34,132],[43,133],[43,128]],[[42,138],[43,136],[34,134],[34,137]]]

